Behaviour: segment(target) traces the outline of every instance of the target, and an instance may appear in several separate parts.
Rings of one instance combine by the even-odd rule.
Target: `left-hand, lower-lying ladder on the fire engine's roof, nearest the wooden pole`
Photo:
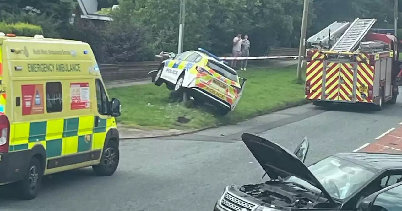
[[[325,43],[329,39],[333,37],[339,37],[342,35],[347,27],[349,27],[349,22],[337,22],[335,21],[325,29],[322,29],[320,32],[316,33],[315,35],[311,36],[307,39],[308,43]],[[330,37],[331,36],[331,37]]]

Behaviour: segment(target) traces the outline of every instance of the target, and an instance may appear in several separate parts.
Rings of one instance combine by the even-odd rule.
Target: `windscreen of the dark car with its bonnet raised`
[[[320,181],[331,197],[340,200],[355,193],[375,174],[357,164],[333,156],[309,166],[308,169]],[[321,192],[315,186],[295,176],[291,176],[285,181],[295,182],[306,188]]]

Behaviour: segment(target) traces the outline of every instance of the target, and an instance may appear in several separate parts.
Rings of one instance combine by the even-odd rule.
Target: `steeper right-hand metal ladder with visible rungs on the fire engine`
[[[363,39],[376,19],[356,18],[330,51],[350,52]]]

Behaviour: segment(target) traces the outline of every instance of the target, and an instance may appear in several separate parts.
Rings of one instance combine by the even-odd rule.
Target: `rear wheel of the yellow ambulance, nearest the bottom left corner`
[[[18,197],[24,200],[35,199],[38,195],[43,176],[43,167],[41,162],[35,157],[29,162],[23,180],[17,183]]]

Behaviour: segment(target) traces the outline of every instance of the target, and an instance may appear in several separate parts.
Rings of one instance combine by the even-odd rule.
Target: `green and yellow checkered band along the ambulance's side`
[[[98,121],[96,127],[95,121]],[[46,149],[47,158],[53,158],[102,149],[110,121],[88,115],[13,124],[9,152],[29,150],[41,144]]]

